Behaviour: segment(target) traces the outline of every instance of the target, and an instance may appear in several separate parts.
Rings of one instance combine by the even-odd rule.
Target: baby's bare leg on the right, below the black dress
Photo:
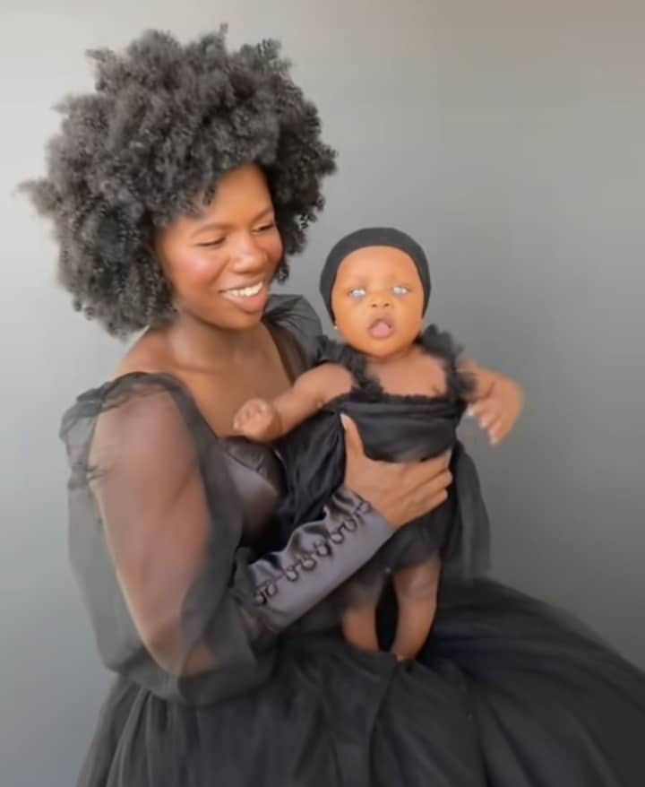
[[[414,659],[426,643],[436,612],[440,575],[438,556],[392,575],[399,619],[391,650],[401,659]]]

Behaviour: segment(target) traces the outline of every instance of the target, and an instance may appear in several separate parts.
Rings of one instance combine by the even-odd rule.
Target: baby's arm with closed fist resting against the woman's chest
[[[236,412],[233,428],[259,443],[270,443],[311,418],[341,393],[352,379],[346,368],[326,363],[310,369],[275,399],[250,399]]]

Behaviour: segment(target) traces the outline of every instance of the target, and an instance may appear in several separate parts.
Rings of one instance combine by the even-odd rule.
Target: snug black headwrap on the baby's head
[[[428,299],[430,298],[430,270],[426,252],[417,244],[416,240],[410,238],[405,232],[401,232],[400,229],[366,227],[365,229],[357,229],[355,232],[350,232],[345,238],[340,238],[339,242],[331,249],[323,265],[323,272],[320,278],[320,292],[331,319],[333,319],[331,290],[333,289],[334,281],[336,281],[336,273],[340,264],[345,257],[358,251],[359,248],[366,248],[366,246],[391,246],[391,248],[398,248],[409,256],[417,266],[419,278],[423,285],[424,311],[426,311]]]

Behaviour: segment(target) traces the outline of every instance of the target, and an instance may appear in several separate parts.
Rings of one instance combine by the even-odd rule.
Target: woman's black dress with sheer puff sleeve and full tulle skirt
[[[279,298],[266,324],[295,376],[311,309]],[[214,435],[173,377],[84,393],[62,434],[73,569],[116,672],[81,787],[643,784],[645,676],[539,601],[458,572],[409,663],[299,628],[391,528],[341,486],[271,550],[280,463]],[[141,568],[143,624],[115,555]]]

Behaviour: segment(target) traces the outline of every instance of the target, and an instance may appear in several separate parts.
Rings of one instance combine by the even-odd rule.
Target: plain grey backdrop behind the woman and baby
[[[56,429],[123,352],[56,289],[47,228],[11,189],[41,171],[51,105],[90,85],[84,48],[227,20],[236,42],[284,40],[341,154],[291,288],[320,306],[321,257],[359,224],[417,235],[434,320],[528,390],[507,445],[466,433],[496,575],[645,665],[642,0],[3,0],[2,787],[73,783],[107,685],[66,563]]]

